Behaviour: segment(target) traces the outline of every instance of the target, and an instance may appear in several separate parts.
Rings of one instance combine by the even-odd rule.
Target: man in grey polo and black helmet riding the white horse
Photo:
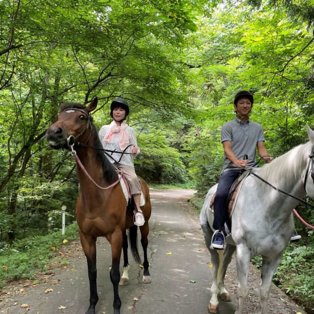
[[[218,183],[214,201],[214,221],[212,227],[219,230],[212,247],[222,249],[224,247],[224,235],[226,235],[224,223],[226,220],[226,202],[232,183],[239,173],[246,167],[252,167],[256,162],[256,147],[259,155],[270,162],[273,157],[267,156],[264,145],[262,126],[249,119],[254,103],[253,95],[246,90],[235,94],[234,107],[236,116],[227,122],[221,130],[221,142],[224,147],[224,165],[222,175]],[[243,158],[247,155],[247,159]]]

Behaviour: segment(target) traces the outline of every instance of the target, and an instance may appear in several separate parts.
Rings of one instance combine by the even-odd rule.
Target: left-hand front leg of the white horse
[[[236,271],[238,277],[237,297],[238,304],[235,314],[242,314],[244,299],[247,296],[247,276],[249,272],[249,263],[251,259],[250,250],[247,246],[241,244],[236,247]]]

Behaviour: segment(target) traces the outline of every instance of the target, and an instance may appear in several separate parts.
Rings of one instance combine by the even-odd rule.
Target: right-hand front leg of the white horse
[[[269,290],[272,283],[273,275],[282,260],[284,251],[277,254],[275,257],[265,257],[263,256],[262,261],[262,284],[260,289],[260,305],[258,314],[267,313],[267,301],[269,298]]]

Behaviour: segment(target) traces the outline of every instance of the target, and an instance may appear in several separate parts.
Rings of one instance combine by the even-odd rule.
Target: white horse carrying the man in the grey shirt
[[[314,131],[307,126],[310,141],[299,145],[288,153],[275,158],[271,163],[252,171],[278,189],[296,197],[308,194],[314,198],[313,154]],[[231,301],[224,287],[227,266],[236,249],[238,276],[238,304],[235,314],[241,314],[243,302],[248,294],[247,277],[250,260],[262,255],[262,283],[258,314],[267,313],[267,301],[272,277],[282,260],[286,245],[294,230],[292,209],[300,200],[262,182],[250,174],[242,183],[232,215],[231,235],[235,246],[227,244],[224,250],[210,248],[213,213],[209,202],[217,184],[209,189],[200,222],[213,265],[213,282],[210,288],[209,313],[218,312],[218,296]]]

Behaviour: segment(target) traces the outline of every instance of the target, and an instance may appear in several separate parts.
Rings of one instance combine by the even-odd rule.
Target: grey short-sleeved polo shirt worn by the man
[[[256,145],[258,142],[265,141],[263,128],[259,123],[248,120],[243,123],[235,117],[234,120],[223,125],[221,130],[221,142],[231,141],[232,151],[235,157],[243,159],[244,155],[248,155],[248,163],[246,167],[251,167],[256,162]],[[224,154],[224,166],[222,172],[239,169]]]

